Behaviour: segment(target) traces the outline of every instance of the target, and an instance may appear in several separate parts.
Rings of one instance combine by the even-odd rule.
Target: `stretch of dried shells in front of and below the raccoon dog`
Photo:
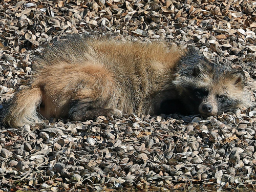
[[[14,191],[254,189],[255,121],[241,114],[100,116],[2,127],[0,184]]]

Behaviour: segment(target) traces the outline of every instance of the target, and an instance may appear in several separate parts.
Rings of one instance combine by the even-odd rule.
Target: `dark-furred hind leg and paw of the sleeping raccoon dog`
[[[99,101],[81,101],[75,100],[70,105],[69,118],[74,121],[85,119],[94,119],[100,115],[111,116],[116,118],[122,117],[122,112],[117,109],[103,109]]]

